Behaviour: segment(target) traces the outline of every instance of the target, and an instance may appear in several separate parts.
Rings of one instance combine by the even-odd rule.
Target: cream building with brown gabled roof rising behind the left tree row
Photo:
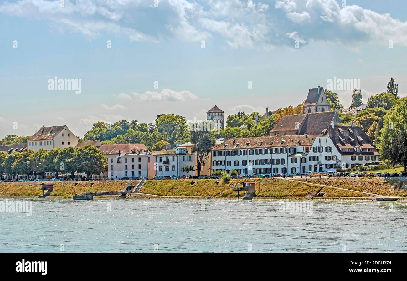
[[[27,139],[27,148],[40,150],[41,148],[50,150],[51,148],[66,148],[77,146],[78,138],[68,129],[67,126],[42,126],[33,136]]]

